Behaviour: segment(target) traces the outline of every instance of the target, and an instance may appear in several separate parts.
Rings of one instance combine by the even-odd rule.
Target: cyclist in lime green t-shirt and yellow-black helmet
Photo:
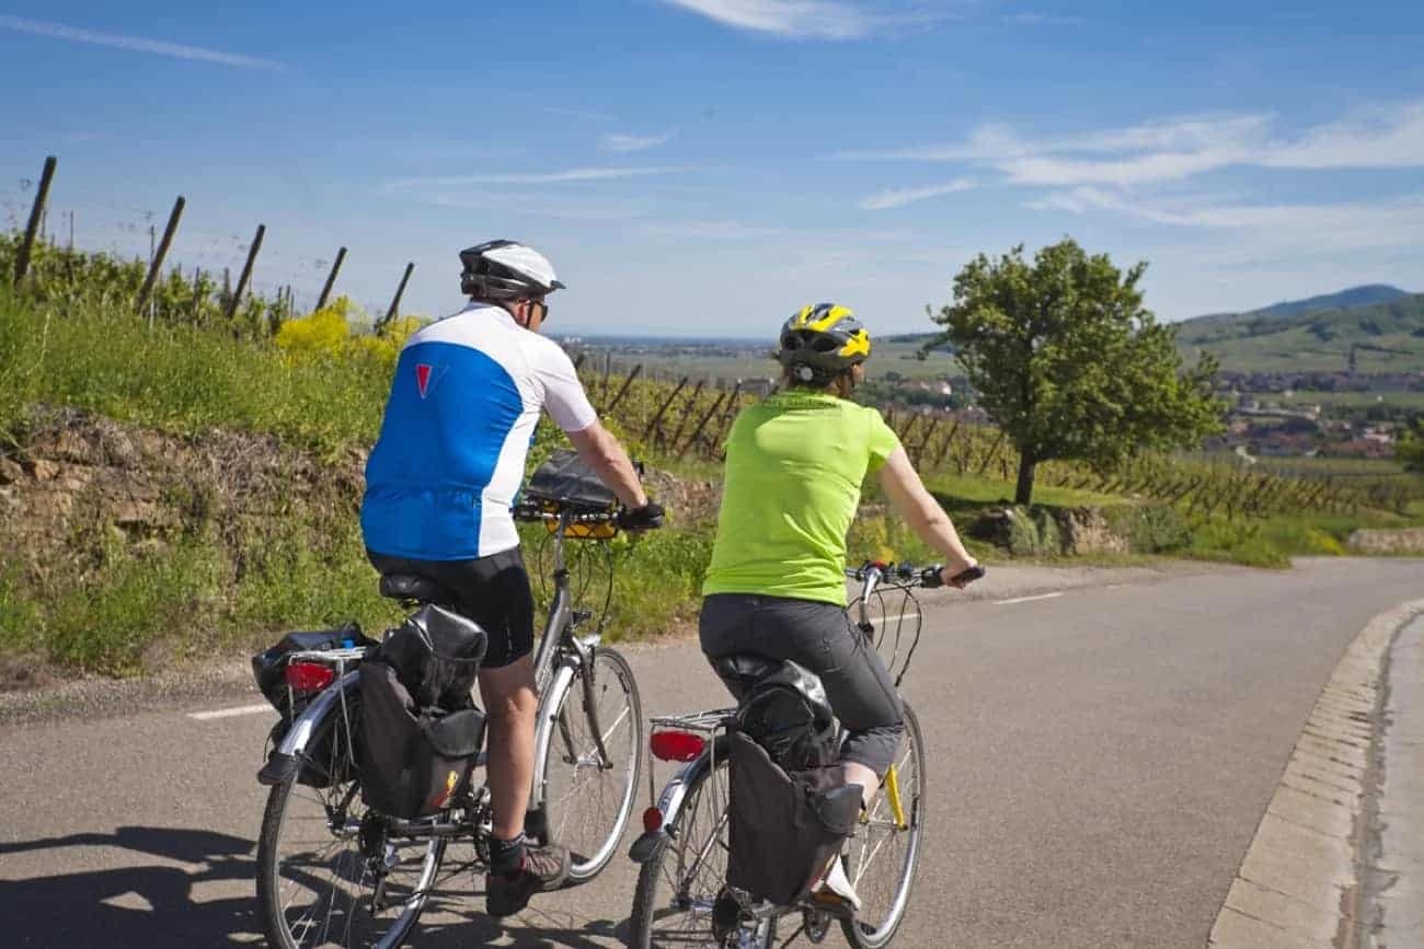
[[[846,616],[846,532],[874,472],[900,515],[944,555],[943,579],[975,565],[899,438],[850,394],[870,334],[833,303],[782,327],[783,390],[743,410],[726,442],[726,477],[699,617],[708,659],[750,653],[805,666],[846,727],[843,780],[869,805],[904,733],[900,696],[880,656]],[[839,869],[839,864],[837,864]],[[830,881],[854,902],[849,882]]]

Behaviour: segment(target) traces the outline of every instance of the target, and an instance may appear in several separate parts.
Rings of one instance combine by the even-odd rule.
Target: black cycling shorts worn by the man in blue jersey
[[[454,603],[490,636],[480,663],[498,669],[534,652],[534,593],[520,548],[471,561],[412,561],[366,551],[384,573],[413,573],[444,586],[460,598]]]

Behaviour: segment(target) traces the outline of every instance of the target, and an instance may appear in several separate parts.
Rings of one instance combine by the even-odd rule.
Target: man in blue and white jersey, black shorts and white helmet
[[[524,841],[534,773],[534,599],[510,508],[540,410],[628,508],[625,526],[656,526],[618,440],[600,423],[562,349],[540,336],[554,266],[513,240],[460,252],[459,313],[410,337],[396,364],[380,438],[366,464],[362,531],[382,573],[450,589],[490,643],[480,667],[494,811],[488,912],[507,916],[568,876],[568,851]]]

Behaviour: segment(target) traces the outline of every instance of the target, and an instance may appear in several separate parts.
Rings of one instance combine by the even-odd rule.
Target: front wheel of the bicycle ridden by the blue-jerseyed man
[[[554,701],[543,756],[544,815],[548,839],[568,847],[568,876],[578,882],[608,865],[628,827],[642,770],[642,706],[628,660],[602,647]]]

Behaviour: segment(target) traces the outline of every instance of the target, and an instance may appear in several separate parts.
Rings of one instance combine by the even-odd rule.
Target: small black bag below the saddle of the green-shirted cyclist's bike
[[[820,677],[790,660],[756,679],[736,704],[738,728],[787,771],[840,758],[840,726]]]

